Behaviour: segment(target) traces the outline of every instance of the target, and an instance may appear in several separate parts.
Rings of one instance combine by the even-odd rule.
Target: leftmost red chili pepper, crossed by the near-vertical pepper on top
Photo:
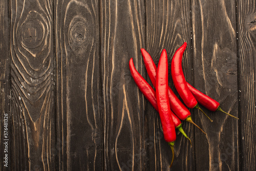
[[[146,97],[146,99],[153,105],[153,107],[158,112],[157,98],[156,98],[155,90],[152,89],[150,84],[148,84],[147,81],[135,69],[134,63],[133,63],[133,58],[130,59],[129,66],[130,66],[131,74],[132,74],[134,81],[137,84],[139,90],[142,92],[142,94]],[[186,137],[191,144],[191,140],[187,137],[186,133],[184,132],[184,130],[182,128],[180,119],[172,111],[170,111],[170,114],[173,117],[175,128],[177,130],[179,130],[181,132],[181,134],[184,137]]]

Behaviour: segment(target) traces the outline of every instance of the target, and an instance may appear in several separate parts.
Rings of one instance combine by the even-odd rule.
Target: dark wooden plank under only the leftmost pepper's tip
[[[144,98],[129,70],[145,76],[144,1],[100,2],[104,170],[145,168]]]

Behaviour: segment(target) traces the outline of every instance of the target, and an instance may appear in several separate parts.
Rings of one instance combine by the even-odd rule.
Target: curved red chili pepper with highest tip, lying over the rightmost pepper
[[[184,44],[175,52],[173,60],[172,60],[172,78],[174,81],[174,86],[182,98],[183,102],[186,104],[188,108],[199,109],[205,116],[207,116],[202,109],[199,107],[196,98],[189,91],[186,80],[182,71],[182,55],[186,49],[187,43]],[[207,116],[208,117],[208,116]],[[209,118],[209,117],[208,117]],[[209,118],[210,119],[210,118]],[[212,122],[212,120],[210,119]]]

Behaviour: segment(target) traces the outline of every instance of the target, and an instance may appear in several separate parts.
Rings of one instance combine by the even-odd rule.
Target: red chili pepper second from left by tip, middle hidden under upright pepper
[[[153,83],[153,86],[156,87],[156,71],[157,67],[155,65],[155,62],[153,61],[150,54],[147,53],[145,49],[141,49],[141,54],[143,56],[143,60],[145,63],[146,71],[148,76],[151,79],[151,82]],[[191,114],[189,110],[186,108],[186,106],[180,101],[180,99],[175,95],[175,93],[168,87],[168,96],[169,96],[169,102],[170,102],[170,109],[175,113],[175,115],[178,116],[181,120],[185,120],[187,122],[193,123],[195,126],[197,126],[204,134],[206,134],[197,124],[193,122],[191,119]],[[177,129],[177,127],[176,127]]]

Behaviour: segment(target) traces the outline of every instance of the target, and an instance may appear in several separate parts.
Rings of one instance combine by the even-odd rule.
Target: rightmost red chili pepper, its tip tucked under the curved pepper
[[[220,103],[218,101],[216,101],[215,99],[210,98],[209,96],[203,94],[202,92],[200,92],[199,90],[195,89],[193,86],[191,86],[188,82],[187,82],[187,87],[190,90],[190,92],[194,95],[194,97],[197,99],[197,101],[202,104],[206,109],[215,112],[215,111],[221,111],[233,118],[239,119],[233,115],[230,115],[229,113],[224,112],[221,108],[220,108]]]

